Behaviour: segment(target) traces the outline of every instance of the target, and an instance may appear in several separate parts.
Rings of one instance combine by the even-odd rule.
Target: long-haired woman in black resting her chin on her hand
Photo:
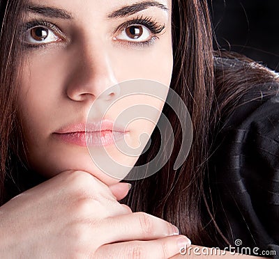
[[[9,233],[2,235],[2,255],[169,258],[190,244],[183,235],[202,246],[225,248],[238,238],[247,246],[269,249],[271,244],[276,249],[276,232],[270,226],[264,228],[264,223],[259,228],[257,222],[276,222],[278,209],[266,207],[273,210],[269,219],[250,217],[250,211],[259,209],[245,206],[248,203],[242,201],[247,196],[237,201],[237,186],[226,182],[223,172],[229,173],[232,182],[239,180],[239,171],[232,171],[237,167],[234,159],[250,153],[250,143],[259,134],[248,131],[248,141],[240,141],[247,146],[232,154],[232,143],[238,143],[239,135],[229,130],[241,132],[241,122],[259,111],[259,104],[269,104],[269,125],[276,129],[278,104],[268,96],[276,94],[278,79],[237,56],[215,54],[213,58],[206,1],[119,1],[106,6],[97,0],[0,1],[0,5],[1,203],[5,203],[0,231]],[[179,120],[167,106],[156,104],[175,126],[175,148],[160,173],[131,182],[133,188],[122,201],[128,207],[116,201],[126,196],[128,185],[94,167],[84,143],[77,145],[79,141],[68,136],[79,127],[85,134],[84,116],[96,96],[109,86],[137,78],[158,81],[179,94],[193,121],[193,146],[186,162],[174,171],[181,138]],[[107,98],[114,96],[117,91]],[[268,98],[272,101],[264,102]],[[240,104],[248,101],[251,106],[242,106],[246,113],[239,111]],[[119,109],[127,103],[123,105]],[[138,128],[130,126],[132,146],[141,133]],[[269,140],[276,136],[274,130],[256,128]],[[153,129],[146,125],[144,130],[151,133]],[[160,143],[160,137],[164,135],[154,130],[152,143]],[[158,144],[151,147],[129,165],[149,162]],[[115,154],[113,148],[109,152]],[[253,157],[260,157],[260,152]],[[124,161],[117,153],[116,159]],[[260,173],[259,164],[252,167],[249,160],[245,162],[245,169]],[[276,180],[273,172],[276,166],[269,168],[267,178],[257,173],[259,177],[251,179],[256,183]],[[244,174],[245,180],[247,176],[251,174]],[[257,198],[254,193],[248,190]],[[231,211],[235,208],[242,218]],[[174,235],[176,227],[160,218],[174,223],[183,235]],[[241,228],[243,222],[247,231]],[[260,240],[258,230],[262,229]]]

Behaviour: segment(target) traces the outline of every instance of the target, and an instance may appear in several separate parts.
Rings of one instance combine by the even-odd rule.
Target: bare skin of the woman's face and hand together
[[[27,141],[27,161],[50,180],[0,207],[3,257],[180,258],[179,249],[190,245],[171,223],[121,205],[118,201],[126,196],[129,186],[101,171],[86,147],[65,143],[53,135],[61,127],[85,121],[98,95],[121,81],[149,79],[169,86],[171,1],[159,1],[168,12],[149,7],[128,17],[107,19],[107,14],[136,2],[140,1],[31,2],[63,9],[72,17],[27,13],[26,22],[44,19],[63,31],[63,35],[51,34],[52,40],[43,42],[44,47],[24,53],[19,95],[18,116]],[[123,31],[114,33],[120,24],[139,15],[165,24],[148,47],[129,45],[133,40],[127,40]],[[147,29],[147,34],[152,33]],[[24,33],[23,41],[30,45],[27,36],[30,34]],[[111,96],[117,97],[117,92]],[[107,117],[115,120],[132,104],[152,105],[161,111],[163,103],[146,96],[125,98],[107,111]],[[140,134],[151,134],[154,127],[147,120],[130,123],[128,145],[136,148]],[[107,152],[119,163],[133,166],[137,161],[113,145]]]

